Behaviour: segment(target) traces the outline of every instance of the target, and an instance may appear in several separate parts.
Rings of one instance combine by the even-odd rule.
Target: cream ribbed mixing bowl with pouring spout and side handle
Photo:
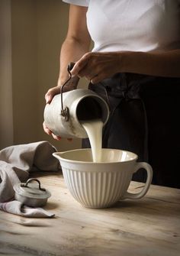
[[[149,164],[137,163],[137,155],[128,151],[102,149],[102,162],[92,162],[91,149],[56,152],[63,177],[72,196],[89,208],[106,208],[121,199],[140,199],[149,190],[153,170]],[[140,193],[128,193],[133,173],[140,168],[147,172],[146,184]]]

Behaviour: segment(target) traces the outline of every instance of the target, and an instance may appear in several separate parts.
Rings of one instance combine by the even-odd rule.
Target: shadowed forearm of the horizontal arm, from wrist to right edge
[[[150,76],[180,77],[180,50],[120,53],[120,69]]]

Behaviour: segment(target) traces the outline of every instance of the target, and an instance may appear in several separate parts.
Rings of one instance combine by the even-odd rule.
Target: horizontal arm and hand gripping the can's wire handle
[[[180,77],[180,49],[147,53],[85,53],[72,69],[73,76],[85,76],[92,83],[98,83],[119,72]]]

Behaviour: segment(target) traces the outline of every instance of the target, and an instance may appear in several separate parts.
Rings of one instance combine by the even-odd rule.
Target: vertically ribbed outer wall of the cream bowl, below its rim
[[[71,170],[66,167],[62,169],[66,186],[72,196],[89,208],[112,206],[127,190],[131,180],[130,172],[119,170],[92,172]]]

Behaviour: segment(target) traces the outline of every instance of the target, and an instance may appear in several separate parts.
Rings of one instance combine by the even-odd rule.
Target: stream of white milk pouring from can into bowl
[[[81,124],[88,134],[88,139],[92,147],[93,162],[101,162],[103,122],[100,119],[95,119],[84,121]]]

